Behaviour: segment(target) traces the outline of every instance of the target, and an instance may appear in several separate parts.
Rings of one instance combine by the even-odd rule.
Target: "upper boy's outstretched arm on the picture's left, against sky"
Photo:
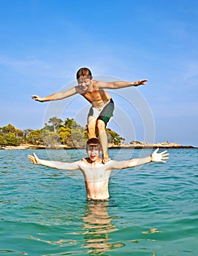
[[[38,95],[31,95],[31,98],[37,102],[48,102],[51,100],[58,100],[70,97],[74,94],[77,94],[77,87],[73,87],[67,91],[56,92],[56,94],[51,94],[47,97],[39,97]]]

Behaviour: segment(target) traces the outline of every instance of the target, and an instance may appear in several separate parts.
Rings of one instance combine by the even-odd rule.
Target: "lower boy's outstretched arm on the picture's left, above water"
[[[39,157],[37,157],[35,153],[33,153],[33,156],[28,155],[28,159],[34,165],[45,165],[47,167],[52,167],[52,168],[62,169],[62,170],[78,170],[79,169],[77,162],[47,161],[47,160],[39,159]]]

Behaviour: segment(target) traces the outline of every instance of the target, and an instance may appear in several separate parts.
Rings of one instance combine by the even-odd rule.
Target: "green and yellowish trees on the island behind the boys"
[[[124,138],[117,132],[106,129],[109,143],[119,145]],[[52,117],[48,124],[42,129],[17,129],[12,124],[0,127],[0,146],[20,146],[21,144],[31,144],[34,146],[67,146],[85,147],[88,140],[86,127],[77,124],[74,118]]]

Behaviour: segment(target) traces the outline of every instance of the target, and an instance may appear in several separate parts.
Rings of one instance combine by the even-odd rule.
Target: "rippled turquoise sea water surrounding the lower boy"
[[[32,150],[0,151],[0,255],[198,255],[198,150],[114,172],[110,200],[86,200],[83,176],[32,165]],[[72,161],[85,151],[37,150]],[[110,150],[142,157],[145,150]]]

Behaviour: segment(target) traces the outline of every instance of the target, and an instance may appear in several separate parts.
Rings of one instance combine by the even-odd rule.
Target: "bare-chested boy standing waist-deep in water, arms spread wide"
[[[58,162],[39,159],[36,154],[28,155],[28,159],[36,165],[45,165],[61,170],[81,170],[85,178],[85,187],[87,198],[93,200],[106,200],[109,195],[110,173],[113,169],[124,169],[137,165],[145,165],[148,162],[166,162],[169,159],[167,151],[157,153],[159,148],[153,151],[148,157],[129,159],[124,161],[110,160],[105,165],[99,156],[101,151],[100,141],[97,138],[91,138],[86,144],[88,157],[76,162]]]

